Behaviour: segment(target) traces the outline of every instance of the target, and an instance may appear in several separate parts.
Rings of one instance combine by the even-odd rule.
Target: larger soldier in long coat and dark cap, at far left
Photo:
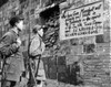
[[[11,28],[0,42],[0,53],[4,61],[1,87],[14,87],[20,81],[22,72],[24,72],[21,40],[19,36],[19,33],[24,28],[23,18],[14,15],[10,19],[9,24]]]

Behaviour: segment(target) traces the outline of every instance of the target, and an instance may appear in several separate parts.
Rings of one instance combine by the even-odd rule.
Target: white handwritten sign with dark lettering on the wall
[[[62,11],[60,40],[103,34],[103,2]]]

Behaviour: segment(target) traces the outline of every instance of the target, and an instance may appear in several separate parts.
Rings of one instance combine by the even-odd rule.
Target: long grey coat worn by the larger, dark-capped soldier
[[[20,76],[24,70],[23,56],[20,47],[17,45],[18,34],[10,30],[0,42],[0,53],[6,58],[4,77],[8,80],[20,80]]]

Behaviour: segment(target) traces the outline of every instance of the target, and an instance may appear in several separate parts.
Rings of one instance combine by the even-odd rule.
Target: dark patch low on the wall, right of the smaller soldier
[[[57,79],[61,83],[72,85],[83,85],[83,78],[81,76],[81,67],[78,62],[71,65],[65,64],[65,56],[59,56],[53,58],[52,56],[46,57],[44,69],[47,78]]]

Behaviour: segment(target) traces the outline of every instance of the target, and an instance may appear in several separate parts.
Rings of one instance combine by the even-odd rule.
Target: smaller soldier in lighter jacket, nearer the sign
[[[42,41],[43,28],[41,25],[36,25],[32,29],[32,37],[30,44],[30,56],[34,63],[34,76],[37,79],[37,87],[42,87],[46,80],[46,74],[43,68],[43,62],[41,55],[44,52],[46,45]],[[38,67],[39,66],[39,67]],[[37,74],[38,70],[38,74]]]

